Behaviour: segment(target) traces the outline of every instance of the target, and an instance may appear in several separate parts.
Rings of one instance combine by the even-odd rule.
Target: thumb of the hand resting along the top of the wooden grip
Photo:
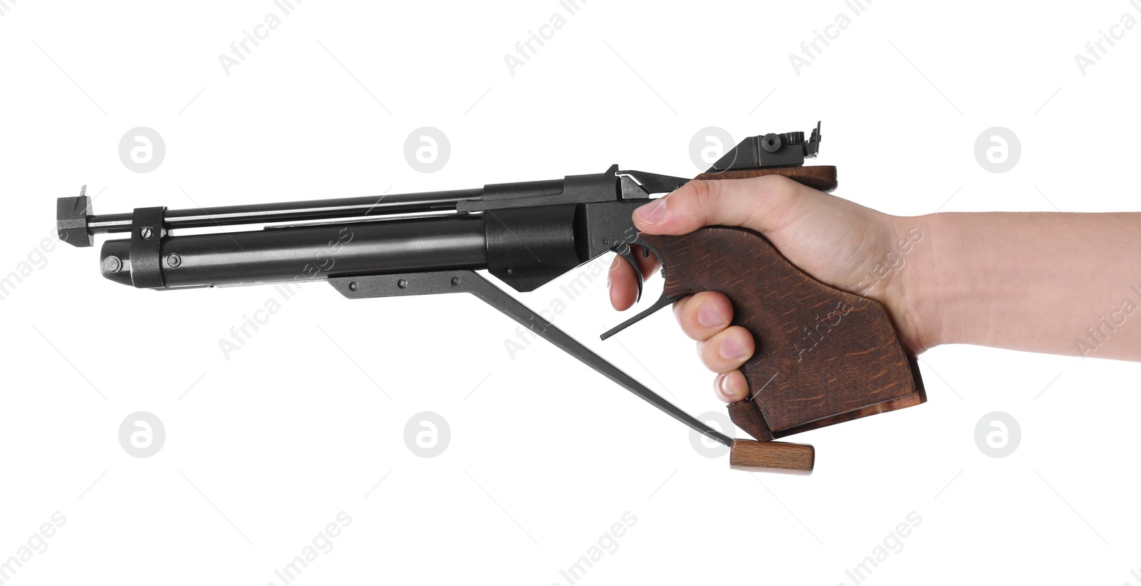
[[[703,226],[741,226],[761,234],[785,226],[793,203],[827,195],[779,176],[695,180],[634,210],[634,226],[646,234],[681,235]]]

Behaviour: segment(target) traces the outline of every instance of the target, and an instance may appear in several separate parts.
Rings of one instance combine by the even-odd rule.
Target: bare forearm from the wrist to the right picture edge
[[[1141,360],[1141,213],[940,213],[903,277],[924,347]]]

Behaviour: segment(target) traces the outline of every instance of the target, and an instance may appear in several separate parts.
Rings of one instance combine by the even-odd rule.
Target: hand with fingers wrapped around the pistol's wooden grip
[[[682,235],[703,226],[739,226],[762,234],[793,264],[827,285],[882,303],[911,351],[923,351],[924,336],[908,309],[909,271],[901,271],[916,229],[900,229],[899,218],[806,187],[791,179],[690,181],[670,195],[634,210],[634,226],[646,234]],[[922,238],[922,231],[917,233]],[[657,269],[657,259],[639,259],[641,275],[615,258],[608,283],[615,309],[630,308],[637,298],[636,278]],[[738,368],[756,351],[753,336],[730,326],[733,304],[720,293],[703,292],[673,304],[682,331],[697,341],[705,366],[719,373],[714,393],[722,401],[748,397]]]

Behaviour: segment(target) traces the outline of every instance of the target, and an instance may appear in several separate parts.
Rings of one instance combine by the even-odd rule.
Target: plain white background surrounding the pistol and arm
[[[472,298],[313,284],[226,359],[219,340],[270,287],[159,294],[102,279],[97,249],[35,252],[55,198],[84,184],[110,213],[615,162],[686,176],[698,129],[817,120],[837,194],[890,213],[1135,211],[1141,31],[1084,75],[1074,59],[1141,19],[1127,2],[876,0],[799,75],[790,54],[851,15],[842,2],[590,0],[566,17],[555,1],[306,0],[228,75],[218,56],[281,14],[272,2],[0,6],[0,275],[35,266],[0,301],[0,561],[66,516],[10,584],[282,584],[274,570],[341,511],[351,523],[298,584],[566,585],[628,511],[580,583],[852,585],[845,570],[914,511],[866,583],[1138,584],[1134,364],[938,348],[928,404],[796,437],[817,447],[811,477],[753,475],[544,342],[512,359],[516,324]],[[566,25],[512,74],[504,55],[555,13]],[[118,154],[139,125],[167,145],[145,174]],[[452,146],[431,174],[403,152],[423,125]],[[1006,173],[974,157],[994,125],[1021,140]],[[566,280],[521,299],[566,301]],[[605,277],[566,306],[555,322],[576,337],[690,413],[721,410],[667,311],[604,343],[620,319]],[[118,440],[139,410],[165,426],[149,458]],[[451,428],[435,458],[403,439],[424,410]],[[1021,426],[1005,458],[974,442],[994,410]]]

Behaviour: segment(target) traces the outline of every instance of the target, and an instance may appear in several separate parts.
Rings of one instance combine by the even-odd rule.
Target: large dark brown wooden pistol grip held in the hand
[[[714,226],[638,238],[662,261],[670,299],[722,293],[733,324],[752,333],[756,352],[741,368],[751,397],[729,415],[758,440],[926,400],[883,306],[808,276],[760,234]]]

